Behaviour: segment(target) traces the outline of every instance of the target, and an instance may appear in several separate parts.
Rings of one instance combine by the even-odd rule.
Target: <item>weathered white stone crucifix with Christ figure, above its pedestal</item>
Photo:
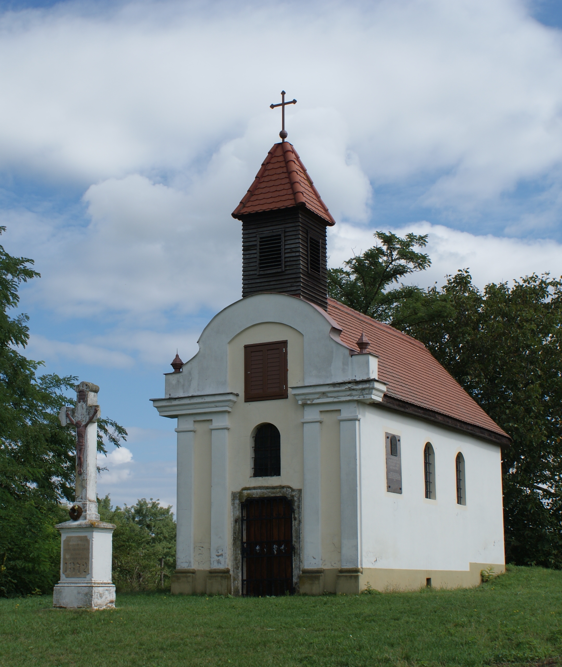
[[[63,426],[76,429],[76,501],[71,517],[98,521],[97,513],[97,420],[100,408],[97,404],[99,387],[91,382],[75,386],[76,407],[64,406],[59,412]],[[81,508],[82,512],[76,509]]]

